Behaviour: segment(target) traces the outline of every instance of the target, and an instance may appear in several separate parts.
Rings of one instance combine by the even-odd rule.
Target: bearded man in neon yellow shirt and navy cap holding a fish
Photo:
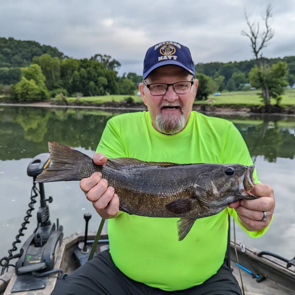
[[[132,157],[174,163],[252,165],[235,126],[192,112],[198,87],[187,47],[162,42],[146,53],[139,91],[148,112],[121,114],[105,127],[93,160]],[[120,196],[101,173],[80,187],[98,214],[108,219],[110,250],[59,280],[53,294],[241,294],[224,264],[227,216],[252,237],[263,235],[273,215],[273,189],[257,183],[261,198],[241,200],[211,217],[197,219],[178,241],[175,218],[149,218],[119,211]],[[140,181],[140,180],[139,180]],[[173,178],[171,178],[173,183]]]

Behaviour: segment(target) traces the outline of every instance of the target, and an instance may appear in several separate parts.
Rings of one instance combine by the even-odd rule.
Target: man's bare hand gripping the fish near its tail
[[[105,155],[96,153],[93,161],[97,165],[104,165],[107,161]],[[108,181],[101,178],[101,173],[93,173],[89,178],[80,181],[80,188],[85,193],[86,198],[92,202],[96,212],[103,219],[117,217],[119,211],[119,198],[115,194],[112,186],[108,186]]]

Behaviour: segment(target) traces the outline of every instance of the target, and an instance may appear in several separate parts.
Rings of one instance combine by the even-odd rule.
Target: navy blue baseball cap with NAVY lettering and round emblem
[[[150,47],[143,61],[142,78],[162,65],[179,65],[195,76],[195,66],[189,48],[177,42],[166,41]]]

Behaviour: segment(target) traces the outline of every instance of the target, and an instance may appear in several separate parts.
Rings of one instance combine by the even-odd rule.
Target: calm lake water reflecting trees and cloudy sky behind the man
[[[8,255],[24,222],[30,202],[32,177],[27,166],[40,153],[47,153],[47,142],[56,141],[94,154],[106,121],[116,114],[97,109],[30,108],[0,106],[0,258]],[[216,115],[219,116],[219,115]],[[237,240],[286,258],[295,255],[295,117],[242,117],[223,115],[242,133],[255,161],[258,177],[275,191],[276,210],[268,232],[260,238],[248,237],[236,227]],[[97,230],[100,217],[86,200],[78,181],[45,183],[45,195],[53,197],[50,219],[59,218],[64,235],[84,231],[83,214],[90,212],[89,230]],[[37,199],[39,202],[39,199]],[[39,203],[22,243],[36,226]],[[106,226],[104,227],[106,229]],[[18,253],[22,243],[18,243]],[[15,261],[13,261],[15,263]]]

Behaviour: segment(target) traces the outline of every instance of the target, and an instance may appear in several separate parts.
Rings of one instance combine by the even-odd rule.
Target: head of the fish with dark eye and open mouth
[[[254,165],[222,165],[201,174],[193,185],[194,194],[204,205],[220,208],[239,199],[257,199],[250,193],[254,186],[254,168]]]

